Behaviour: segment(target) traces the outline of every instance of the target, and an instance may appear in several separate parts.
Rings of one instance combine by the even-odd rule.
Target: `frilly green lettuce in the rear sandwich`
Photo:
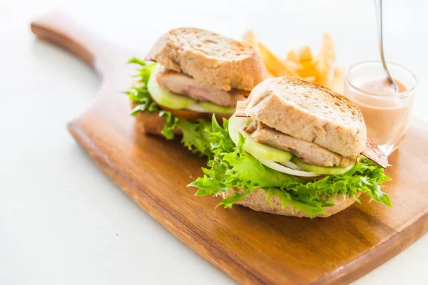
[[[131,58],[128,63],[136,63],[139,66],[135,83],[126,91],[129,99],[138,104],[131,110],[131,115],[136,115],[143,111],[148,112],[149,115],[158,113],[159,116],[165,118],[165,125],[163,126],[161,134],[167,140],[175,138],[173,132],[175,129],[181,130],[183,133],[181,141],[185,147],[188,147],[193,153],[199,153],[208,158],[212,157],[209,140],[211,131],[210,122],[203,119],[185,120],[175,117],[175,115],[166,110],[162,110],[153,98],[151,98],[147,89],[148,78],[150,78],[151,71],[156,63],[142,61],[138,58]]]

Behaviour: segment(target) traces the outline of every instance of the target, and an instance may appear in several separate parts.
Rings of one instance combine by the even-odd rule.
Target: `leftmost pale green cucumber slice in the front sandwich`
[[[259,142],[255,142],[253,138],[248,133],[245,133],[243,130],[244,127],[251,123],[251,118],[238,118],[235,117],[235,114],[232,115],[229,119],[229,135],[233,140],[235,145],[238,145],[239,135],[244,136],[244,150],[249,152],[251,155],[255,157],[260,157],[264,160],[277,161],[277,162],[285,162],[291,159],[292,153],[284,150],[277,150],[276,148],[263,145]]]

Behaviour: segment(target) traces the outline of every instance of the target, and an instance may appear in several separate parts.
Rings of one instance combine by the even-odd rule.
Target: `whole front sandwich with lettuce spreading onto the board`
[[[223,126],[213,120],[210,141],[209,168],[189,186],[223,197],[225,208],[329,217],[361,194],[392,207],[382,192],[387,157],[367,140],[361,111],[317,83],[263,81]]]

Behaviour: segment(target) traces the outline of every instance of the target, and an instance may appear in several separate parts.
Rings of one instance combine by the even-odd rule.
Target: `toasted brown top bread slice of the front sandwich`
[[[367,130],[351,100],[317,83],[272,78],[250,93],[245,111],[255,120],[300,140],[357,157],[365,150]]]

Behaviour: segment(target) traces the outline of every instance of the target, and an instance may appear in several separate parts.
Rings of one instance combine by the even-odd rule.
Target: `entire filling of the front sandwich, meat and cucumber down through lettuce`
[[[315,150],[312,152],[310,145],[295,147],[295,138],[287,136],[282,140],[276,130],[267,129],[275,135],[266,139],[275,140],[275,143],[255,141],[259,125],[252,123],[251,118],[235,115],[224,120],[223,126],[212,121],[210,141],[214,157],[208,161],[209,168],[203,168],[204,176],[188,185],[198,188],[196,196],[227,193],[218,205],[230,208],[251,192],[262,189],[271,206],[272,197],[277,197],[282,209],[290,206],[308,217],[326,214],[325,207],[333,206],[333,197],[337,195],[360,202],[357,197],[360,192],[392,207],[389,196],[382,192],[382,182],[390,178],[376,163],[363,156],[352,162],[342,162],[344,158],[326,152],[322,155],[330,157],[329,165],[342,165],[310,164],[320,161],[319,155],[313,155]],[[262,127],[260,130],[266,129]],[[345,167],[345,163],[349,165]]]

